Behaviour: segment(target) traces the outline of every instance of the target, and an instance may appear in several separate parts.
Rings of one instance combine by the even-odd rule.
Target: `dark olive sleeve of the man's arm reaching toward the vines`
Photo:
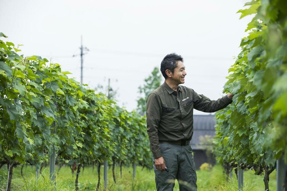
[[[203,112],[215,112],[225,108],[232,102],[227,95],[217,100],[210,100],[204,95],[199,95],[196,92],[193,93],[194,108]]]

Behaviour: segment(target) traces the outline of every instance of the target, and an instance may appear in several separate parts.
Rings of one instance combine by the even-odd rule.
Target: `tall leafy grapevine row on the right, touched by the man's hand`
[[[287,161],[287,7],[281,0],[253,0],[245,6],[238,11],[241,18],[255,16],[229,69],[224,92],[235,95],[216,114],[214,151],[222,164],[243,163],[266,174],[282,155]]]

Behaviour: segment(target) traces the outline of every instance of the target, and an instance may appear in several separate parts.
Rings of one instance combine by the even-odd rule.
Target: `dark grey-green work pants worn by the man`
[[[197,177],[191,146],[159,143],[159,147],[168,172],[157,170],[155,168],[155,158],[153,157],[157,191],[173,191],[175,178],[179,182],[180,191],[196,191]]]

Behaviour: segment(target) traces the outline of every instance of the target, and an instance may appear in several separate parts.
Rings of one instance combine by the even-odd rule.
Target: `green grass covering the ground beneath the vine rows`
[[[45,168],[45,167],[44,167]],[[0,190],[6,189],[7,167],[3,166],[0,170]],[[56,186],[49,181],[49,166],[43,171],[43,176],[36,178],[35,167],[24,166],[23,173],[26,181],[21,177],[21,166],[14,168],[12,179],[12,191],[70,191],[75,190],[75,178],[72,176],[71,170],[68,166],[64,166],[57,172],[56,168]],[[81,169],[79,175],[80,190],[95,190],[98,180],[98,175],[95,169],[86,166]],[[108,169],[108,191],[156,191],[155,175],[153,170],[136,168],[136,178],[132,179],[132,167],[123,167],[123,175],[120,177],[120,168],[116,169],[116,183],[113,182],[112,168]],[[198,170],[197,185],[199,191],[237,191],[237,180],[235,173],[231,181],[226,181],[221,166],[217,165],[212,170]],[[76,174],[76,172],[75,172]],[[244,171],[244,188],[242,191],[264,191],[263,176],[254,175],[253,171]],[[103,167],[101,168],[100,190],[103,190]],[[269,189],[276,190],[276,170],[270,174]],[[179,191],[178,182],[175,181],[174,191]]]

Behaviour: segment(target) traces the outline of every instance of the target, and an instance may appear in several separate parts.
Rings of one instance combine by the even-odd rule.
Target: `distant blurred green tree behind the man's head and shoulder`
[[[156,88],[158,88],[161,85],[162,81],[162,75],[159,70],[159,68],[155,67],[153,71],[151,72],[151,75],[148,76],[144,82],[145,84],[143,86],[139,87],[139,99],[137,100],[137,111],[140,113],[140,115],[144,115],[146,112],[146,101],[148,95],[153,92]]]

